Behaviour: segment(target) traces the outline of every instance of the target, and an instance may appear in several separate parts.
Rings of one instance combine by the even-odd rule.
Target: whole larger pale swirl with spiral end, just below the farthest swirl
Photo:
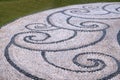
[[[62,16],[56,18],[56,16]],[[62,29],[76,31],[102,31],[109,28],[109,25],[98,21],[82,21],[81,18],[66,16],[60,12],[48,16],[49,24]]]

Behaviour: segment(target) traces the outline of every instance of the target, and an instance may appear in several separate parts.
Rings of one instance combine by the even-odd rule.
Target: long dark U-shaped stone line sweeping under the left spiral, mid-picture
[[[102,32],[103,32],[103,35],[102,35],[98,40],[96,40],[96,41],[94,41],[94,42],[91,42],[91,43],[86,44],[86,45],[82,45],[82,46],[80,46],[80,47],[74,47],[74,48],[69,48],[69,49],[60,49],[60,50],[40,50],[40,49],[31,49],[31,48],[28,48],[28,47],[21,46],[21,45],[17,44],[17,43],[14,41],[15,36],[16,36],[17,34],[14,35],[11,40],[13,41],[13,44],[14,44],[15,46],[18,46],[18,47],[23,48],[23,49],[28,49],[28,50],[32,50],[32,51],[58,52],[58,51],[76,50],[76,49],[85,48],[85,47],[88,47],[88,46],[95,45],[96,43],[98,43],[98,42],[100,42],[100,41],[102,41],[102,40],[104,39],[104,37],[105,37],[105,35],[106,35],[106,30],[103,30]],[[18,34],[19,34],[19,33],[18,33]]]

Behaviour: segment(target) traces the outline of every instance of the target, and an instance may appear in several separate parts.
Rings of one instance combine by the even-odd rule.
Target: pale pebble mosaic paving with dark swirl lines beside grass
[[[120,3],[35,13],[0,29],[0,80],[120,80]]]

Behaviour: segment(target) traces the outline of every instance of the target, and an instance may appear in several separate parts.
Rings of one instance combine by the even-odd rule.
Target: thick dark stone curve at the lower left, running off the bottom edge
[[[17,71],[19,71],[20,73],[24,74],[25,76],[31,78],[31,79],[34,79],[34,80],[46,80],[46,79],[43,79],[43,78],[39,78],[35,75],[32,75],[31,73],[25,71],[24,69],[20,68],[16,63],[14,63],[14,61],[12,61],[12,59],[10,58],[9,56],[9,48],[10,46],[12,45],[13,41],[11,40],[9,42],[9,44],[6,46],[5,48],[5,54],[4,56],[6,57],[7,61],[9,62],[9,64],[15,68]]]

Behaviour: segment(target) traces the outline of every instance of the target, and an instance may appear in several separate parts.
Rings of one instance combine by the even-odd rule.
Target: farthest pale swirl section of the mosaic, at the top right
[[[88,5],[82,8],[66,9],[61,12],[65,15],[85,19],[119,19],[120,4]]]

